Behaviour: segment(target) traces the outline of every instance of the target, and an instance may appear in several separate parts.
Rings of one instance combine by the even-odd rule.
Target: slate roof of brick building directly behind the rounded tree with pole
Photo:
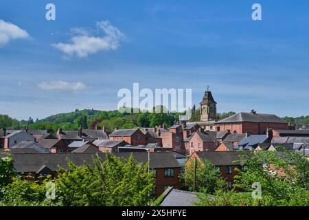
[[[240,155],[251,155],[250,151],[196,151],[198,157],[209,160],[214,166],[240,164]]]

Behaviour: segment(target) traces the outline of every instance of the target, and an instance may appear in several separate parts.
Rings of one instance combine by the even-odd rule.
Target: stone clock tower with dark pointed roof
[[[207,86],[207,91],[205,91],[204,97],[201,104],[201,121],[214,121],[216,120],[217,114],[217,102],[214,100],[214,97],[211,95],[211,91],[209,91],[209,87]]]

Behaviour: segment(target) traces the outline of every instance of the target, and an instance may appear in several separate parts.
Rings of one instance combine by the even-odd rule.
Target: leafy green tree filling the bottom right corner
[[[251,192],[253,183],[262,186],[265,206],[309,205],[309,161],[297,151],[259,151],[243,155],[245,168],[238,170],[235,186]]]

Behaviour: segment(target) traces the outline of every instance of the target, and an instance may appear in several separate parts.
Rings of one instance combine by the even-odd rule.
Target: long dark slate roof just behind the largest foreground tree
[[[17,173],[36,172],[43,165],[49,169],[57,171],[59,166],[68,168],[67,159],[71,160],[77,166],[82,164],[93,165],[93,157],[98,155],[105,159],[106,153],[14,153],[14,168]],[[135,161],[146,164],[148,162],[147,152],[134,153],[114,153],[117,157],[128,158],[133,155]],[[1,157],[6,157],[5,154],[0,154]],[[181,166],[170,152],[150,153],[150,168],[180,168]]]

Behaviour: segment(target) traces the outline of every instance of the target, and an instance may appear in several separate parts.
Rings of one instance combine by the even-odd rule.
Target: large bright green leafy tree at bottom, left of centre
[[[56,195],[65,206],[147,206],[154,184],[147,165],[137,164],[133,156],[119,159],[107,154],[102,161],[61,170],[56,181]]]

